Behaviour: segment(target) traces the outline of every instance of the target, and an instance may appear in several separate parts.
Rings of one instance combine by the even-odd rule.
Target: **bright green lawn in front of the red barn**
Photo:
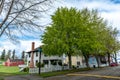
[[[0,77],[11,76],[11,75],[21,75],[21,74],[27,74],[27,73],[19,72],[18,67],[7,67],[7,66],[0,65]]]

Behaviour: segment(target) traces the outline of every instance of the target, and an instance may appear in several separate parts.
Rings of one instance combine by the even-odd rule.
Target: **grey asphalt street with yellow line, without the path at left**
[[[70,73],[43,80],[120,80],[120,66]]]

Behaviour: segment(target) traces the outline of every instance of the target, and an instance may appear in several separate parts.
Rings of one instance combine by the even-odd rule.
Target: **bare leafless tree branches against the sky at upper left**
[[[0,37],[6,35],[14,39],[17,34],[24,31],[40,29],[42,25],[39,21],[52,2],[52,0],[0,0]]]

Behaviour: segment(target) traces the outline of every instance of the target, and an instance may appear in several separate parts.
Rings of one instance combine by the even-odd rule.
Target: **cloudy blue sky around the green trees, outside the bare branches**
[[[120,31],[120,0],[57,0],[50,12],[44,17],[42,24],[49,24],[51,22],[50,15],[58,7],[76,7],[77,9],[89,8],[97,9],[99,15],[105,20],[108,20],[109,25],[116,27]],[[19,35],[19,43],[12,43],[6,37],[0,38],[0,53],[3,49],[16,50],[16,54],[20,54],[23,50],[28,51],[31,49],[31,43],[34,41],[36,47],[41,45],[40,35],[43,32],[26,33],[25,35]]]

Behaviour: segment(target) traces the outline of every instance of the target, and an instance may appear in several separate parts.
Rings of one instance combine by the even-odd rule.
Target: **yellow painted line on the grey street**
[[[99,78],[110,78],[110,79],[120,79],[117,76],[102,76],[102,75],[94,75],[94,74],[67,74],[68,76],[89,76],[89,77],[99,77]]]

